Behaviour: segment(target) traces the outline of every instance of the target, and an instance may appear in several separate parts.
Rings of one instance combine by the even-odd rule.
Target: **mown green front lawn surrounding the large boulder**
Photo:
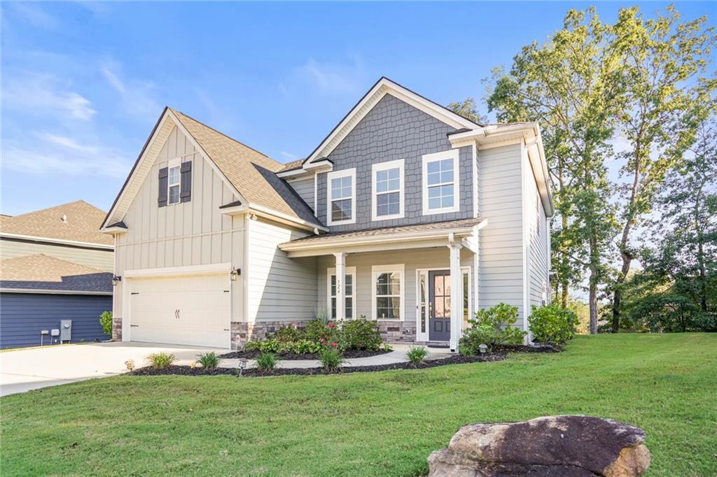
[[[0,400],[3,476],[413,476],[460,425],[579,413],[647,432],[650,476],[717,475],[717,334],[313,377],[109,377]]]

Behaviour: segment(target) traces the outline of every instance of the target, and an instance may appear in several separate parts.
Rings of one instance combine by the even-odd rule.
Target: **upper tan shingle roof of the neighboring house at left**
[[[0,233],[112,245],[113,238],[100,233],[104,218],[99,208],[75,201],[19,216],[2,216]]]

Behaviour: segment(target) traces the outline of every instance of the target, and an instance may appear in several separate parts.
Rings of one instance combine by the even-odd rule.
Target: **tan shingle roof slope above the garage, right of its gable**
[[[323,225],[293,188],[276,175],[284,168],[284,164],[182,112],[171,111],[249,203],[308,223]]]

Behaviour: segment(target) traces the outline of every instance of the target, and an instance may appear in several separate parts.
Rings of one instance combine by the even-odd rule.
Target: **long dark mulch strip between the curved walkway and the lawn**
[[[338,370],[328,371],[320,367],[311,368],[277,368],[272,372],[261,372],[255,368],[244,370],[243,377],[267,377],[267,376],[286,376],[286,375],[338,375],[347,372],[372,372],[386,370],[423,370],[428,367],[437,367],[445,365],[462,365],[470,362],[488,362],[505,360],[504,353],[485,353],[481,356],[462,356],[455,355],[444,358],[442,360],[429,360],[418,365],[412,365],[409,362],[397,362],[390,365],[376,366],[349,366],[341,367]],[[183,375],[183,376],[215,376],[215,375],[232,375],[239,376],[239,370],[228,367],[218,367],[214,370],[205,370],[201,367],[192,369],[189,366],[169,366],[163,370],[155,370],[152,367],[141,367],[133,372],[125,373],[133,376],[159,376],[159,375]]]

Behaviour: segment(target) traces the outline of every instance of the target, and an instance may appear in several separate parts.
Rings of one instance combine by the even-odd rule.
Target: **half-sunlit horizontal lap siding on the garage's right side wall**
[[[313,319],[316,259],[290,259],[279,244],[309,235],[264,218],[247,220],[247,321]]]

